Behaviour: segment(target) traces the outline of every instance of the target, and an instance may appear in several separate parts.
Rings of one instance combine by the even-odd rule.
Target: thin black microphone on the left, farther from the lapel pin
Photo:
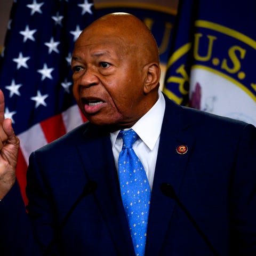
[[[63,221],[60,223],[60,226],[58,227],[58,229],[56,230],[56,233],[51,241],[51,243],[49,244],[49,246],[47,246],[45,252],[43,255],[49,255],[48,253],[50,253],[50,250],[52,249],[53,244],[58,240],[58,238],[60,237],[61,231],[63,229],[63,227],[65,227],[70,215],[73,213],[73,211],[75,210],[76,206],[78,205],[78,203],[82,200],[83,197],[90,195],[92,193],[95,192],[95,190],[97,189],[98,185],[95,181],[90,180],[88,181],[85,186],[84,189],[82,191],[82,193],[77,197],[75,203],[72,205],[72,207],[69,209],[66,217],[63,219]],[[51,255],[51,254],[50,254]]]

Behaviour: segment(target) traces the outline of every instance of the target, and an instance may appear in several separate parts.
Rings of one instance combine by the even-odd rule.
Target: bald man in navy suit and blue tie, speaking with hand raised
[[[15,181],[19,141],[0,95],[1,253],[256,255],[255,127],[164,97],[156,42],[130,14],[87,27],[71,66],[75,99],[90,122],[31,154],[28,213]],[[149,216],[143,210],[137,225],[146,226],[138,231],[146,245],[127,213],[129,167],[118,162],[130,128],[149,186],[138,195],[150,190]]]

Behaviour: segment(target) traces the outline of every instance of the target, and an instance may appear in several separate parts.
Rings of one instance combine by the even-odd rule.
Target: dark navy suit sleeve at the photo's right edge
[[[223,156],[225,157],[225,156]],[[246,125],[230,189],[231,255],[256,255],[256,129]]]

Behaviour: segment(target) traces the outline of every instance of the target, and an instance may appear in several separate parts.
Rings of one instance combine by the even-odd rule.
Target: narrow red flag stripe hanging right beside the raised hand
[[[25,161],[25,158],[23,157],[23,154],[21,150],[19,149],[18,153],[18,163],[16,168],[16,176],[17,180],[20,186],[21,195],[23,198],[23,201],[25,205],[28,204],[28,198],[26,196],[26,186],[27,186],[27,179],[26,179],[26,173],[27,173],[27,163]]]

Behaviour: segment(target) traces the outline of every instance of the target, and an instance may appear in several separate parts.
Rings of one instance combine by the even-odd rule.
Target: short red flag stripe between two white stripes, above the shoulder
[[[48,143],[58,139],[66,133],[62,115],[56,115],[40,122],[45,138]]]

